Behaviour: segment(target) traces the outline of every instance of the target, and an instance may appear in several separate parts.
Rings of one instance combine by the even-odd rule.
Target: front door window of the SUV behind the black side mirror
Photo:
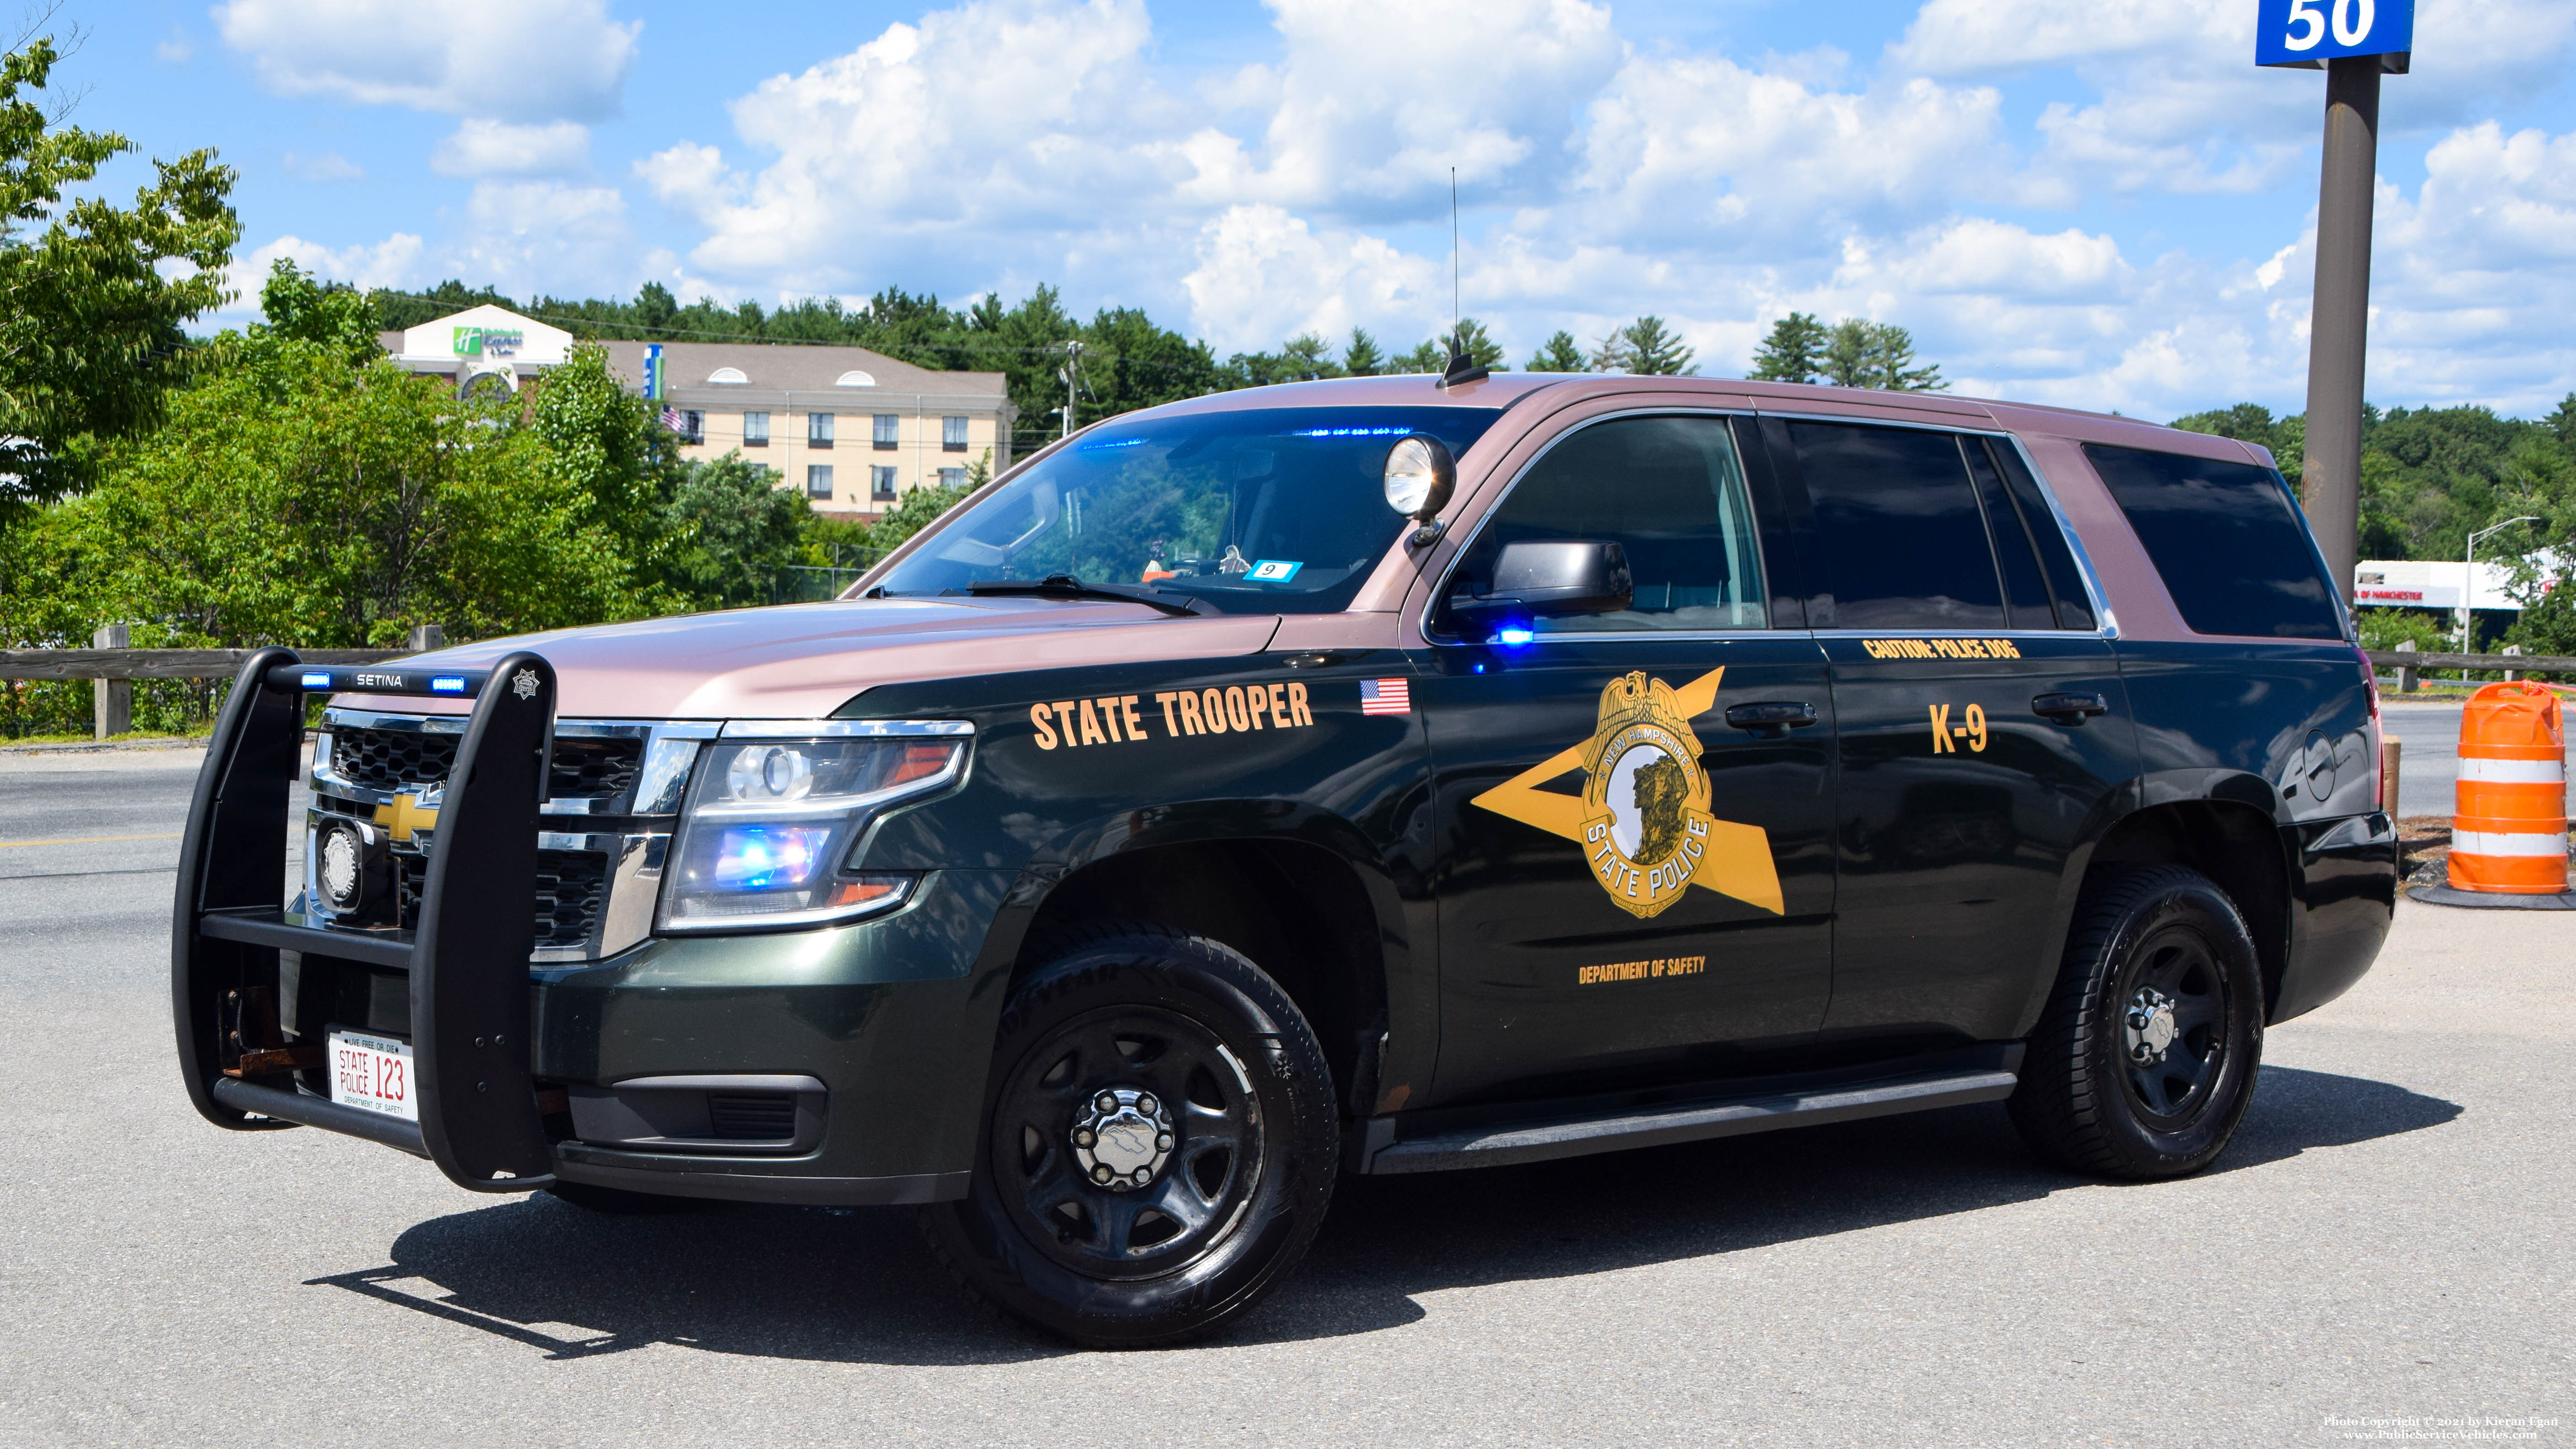
[[[1450,595],[1489,592],[1494,558],[1525,538],[1618,540],[1636,579],[1633,607],[1540,618],[1540,633],[1770,625],[1744,468],[1721,417],[1625,417],[1564,438],[1512,484]]]

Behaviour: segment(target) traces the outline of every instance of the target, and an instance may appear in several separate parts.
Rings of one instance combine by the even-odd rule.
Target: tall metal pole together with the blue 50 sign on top
[[[2370,188],[2380,157],[2380,75],[2406,75],[2414,0],[2257,0],[2254,64],[2326,72],[2326,157],[2316,188],[2308,309],[2308,450],[2298,494],[2344,597],[2360,561],[2362,383],[2370,345]]]

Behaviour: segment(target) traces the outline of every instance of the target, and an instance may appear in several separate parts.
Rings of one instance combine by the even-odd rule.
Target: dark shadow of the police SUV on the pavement
[[[2264,1068],[2221,1174],[2437,1127],[2460,1107],[2385,1081]],[[1999,1104],[1558,1163],[1345,1179],[1298,1279],[1213,1343],[1396,1328],[1422,1295],[1584,1277],[2081,1186]],[[2154,1192],[2141,1186],[2136,1192]],[[708,1204],[603,1217],[551,1197],[456,1212],[392,1264],[312,1279],[554,1359],[677,1343],[871,1364],[1007,1364],[1066,1349],[956,1292],[909,1210]]]

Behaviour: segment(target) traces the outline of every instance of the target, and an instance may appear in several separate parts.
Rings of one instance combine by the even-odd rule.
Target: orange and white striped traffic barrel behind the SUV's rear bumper
[[[2452,891],[2566,896],[2568,744],[2553,690],[2509,682],[2470,695],[2452,808]]]

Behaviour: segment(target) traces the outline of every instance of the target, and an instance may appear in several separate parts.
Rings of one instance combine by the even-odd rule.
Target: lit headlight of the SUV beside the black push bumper
[[[855,875],[850,852],[889,806],[943,790],[963,770],[958,736],[708,746],[662,888],[659,929],[811,927],[899,906],[912,878]]]

